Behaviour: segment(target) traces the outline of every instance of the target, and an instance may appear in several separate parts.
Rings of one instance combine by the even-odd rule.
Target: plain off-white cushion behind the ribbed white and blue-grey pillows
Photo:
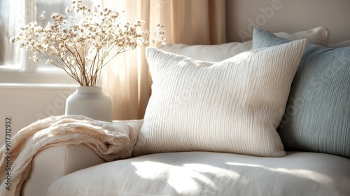
[[[323,47],[327,46],[329,41],[329,31],[325,27],[316,27],[305,31],[297,31],[293,34],[279,32],[275,33],[275,35],[288,40],[306,38],[307,43],[322,45]],[[238,55],[241,52],[251,50],[252,45],[252,41],[231,42],[218,45],[186,45],[183,43],[167,43],[167,45],[160,46],[159,49],[201,61],[219,62]]]

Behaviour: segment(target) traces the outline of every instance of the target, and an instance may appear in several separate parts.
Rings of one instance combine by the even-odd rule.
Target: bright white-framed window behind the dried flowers
[[[83,3],[93,6],[97,1]],[[29,22],[45,27],[43,11],[50,21],[51,13],[63,14],[70,5],[71,0],[0,0],[0,83],[74,83],[63,70],[44,61],[32,62],[31,52],[9,41]]]

